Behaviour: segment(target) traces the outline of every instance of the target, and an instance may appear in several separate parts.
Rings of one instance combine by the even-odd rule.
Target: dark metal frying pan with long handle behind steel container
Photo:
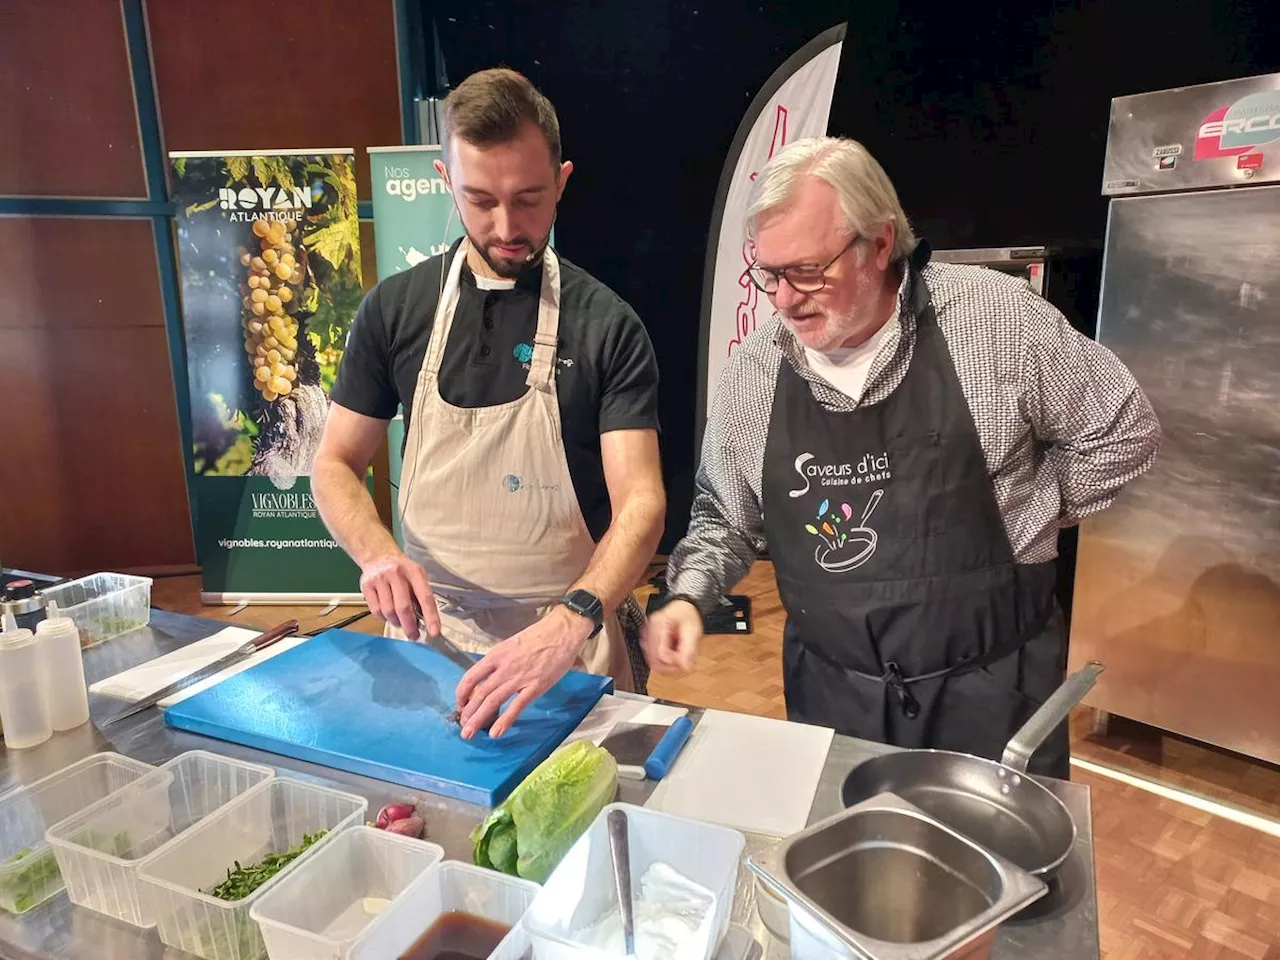
[[[845,778],[845,806],[895,794],[987,850],[1047,878],[1075,844],[1066,805],[1027,763],[1106,667],[1089,660],[1053,691],[1005,746],[1001,762],[954,750],[901,750],[854,767]]]

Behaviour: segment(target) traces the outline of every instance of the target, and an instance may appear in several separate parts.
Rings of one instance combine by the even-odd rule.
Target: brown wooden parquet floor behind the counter
[[[659,570],[654,567],[654,571]],[[644,600],[646,588],[637,591]],[[696,669],[650,678],[649,692],[700,707],[785,717],[782,605],[767,562],[733,593],[751,598],[753,632],[708,637]],[[157,580],[154,602],[225,618],[200,604],[196,577]],[[256,607],[237,623],[266,627],[294,616],[305,631],[349,616],[314,608]],[[367,618],[352,630],[378,632]],[[1119,718],[1106,736],[1073,717],[1076,756],[1155,778],[1280,819],[1280,769],[1207,749]],[[1280,837],[1156,796],[1088,771],[1073,778],[1093,791],[1098,915],[1106,960],[1280,960]]]

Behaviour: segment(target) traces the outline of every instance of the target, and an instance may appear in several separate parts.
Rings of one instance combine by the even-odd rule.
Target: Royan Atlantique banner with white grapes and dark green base
[[[364,603],[311,497],[362,296],[355,151],[170,154],[206,603]]]

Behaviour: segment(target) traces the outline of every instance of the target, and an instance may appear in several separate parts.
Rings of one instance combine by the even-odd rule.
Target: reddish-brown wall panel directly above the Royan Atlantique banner
[[[150,0],[166,150],[401,142],[393,0]]]

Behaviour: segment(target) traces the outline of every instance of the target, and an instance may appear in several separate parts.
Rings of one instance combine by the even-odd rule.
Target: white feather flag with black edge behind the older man
[[[746,237],[746,200],[760,168],[795,140],[827,132],[846,24],[818,35],[783,63],[764,84],[739,124],[721,172],[703,271],[701,342],[695,435],[703,428],[721,370],[772,307],[751,283],[755,250]]]

